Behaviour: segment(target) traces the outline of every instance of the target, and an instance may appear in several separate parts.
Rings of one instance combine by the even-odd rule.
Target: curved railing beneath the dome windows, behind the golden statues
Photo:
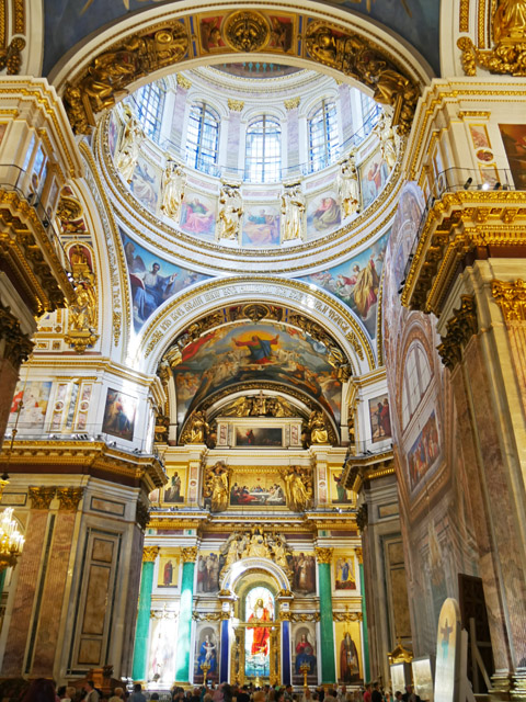
[[[129,95],[127,101],[133,102],[135,106],[138,106],[137,100],[134,95]],[[334,151],[334,155],[331,158],[327,158],[323,160],[323,166],[321,168],[315,168],[315,163],[312,161],[306,161],[301,163],[295,163],[294,166],[287,166],[279,169],[279,173],[275,179],[264,181],[265,183],[279,183],[283,181],[291,180],[294,178],[309,176],[315,172],[319,172],[324,168],[329,168],[338,162],[339,159],[345,158],[353,149],[357,148],[370,134],[375,125],[378,123],[380,116],[382,114],[381,105],[375,103],[375,105],[369,110],[369,112],[365,115],[364,122],[362,125],[347,137],[341,145],[339,145]],[[187,163],[191,168],[195,168],[195,170],[206,173],[207,176],[211,176],[214,178],[231,178],[235,180],[242,181],[244,183],[251,184],[264,184],[260,180],[251,180],[250,171],[245,168],[231,168],[228,166],[218,166],[217,163],[208,163],[206,161],[201,161],[199,163],[195,163],[196,157],[195,152],[188,151],[187,149],[181,148],[171,139],[162,139],[160,140],[159,135],[155,135],[150,137],[151,140],[159,146],[163,151],[167,151],[170,156],[175,157],[181,162]]]

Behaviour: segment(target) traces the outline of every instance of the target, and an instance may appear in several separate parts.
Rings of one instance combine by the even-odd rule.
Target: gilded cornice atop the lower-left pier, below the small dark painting
[[[115,476],[145,480],[152,490],[167,483],[163,467],[152,455],[128,454],[108,448],[101,441],[30,441],[19,439],[12,449],[2,449],[0,461],[10,455],[10,465],[33,465],[43,467],[78,466],[85,471],[93,468]],[[53,472],[53,471],[49,471]]]

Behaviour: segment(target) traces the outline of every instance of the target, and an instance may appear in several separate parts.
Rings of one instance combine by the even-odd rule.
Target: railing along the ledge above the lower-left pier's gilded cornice
[[[14,441],[78,441],[82,444],[104,442],[108,448],[125,451],[130,455],[153,455],[159,461],[161,457],[151,439],[130,439],[129,441],[122,435],[115,435],[107,431],[102,431],[100,424],[85,424],[79,427],[60,427],[53,429],[53,424],[46,428],[35,428],[35,422],[15,422],[12,419],[5,428],[3,437],[3,451],[8,450],[8,445]],[[123,433],[123,432],[121,432]],[[161,461],[162,463],[162,461]]]

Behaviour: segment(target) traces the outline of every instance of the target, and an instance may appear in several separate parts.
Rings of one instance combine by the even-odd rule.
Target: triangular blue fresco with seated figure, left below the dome
[[[132,288],[135,331],[139,331],[148,317],[167,299],[188,285],[209,278],[164,261],[134,241],[122,229],[121,237]]]

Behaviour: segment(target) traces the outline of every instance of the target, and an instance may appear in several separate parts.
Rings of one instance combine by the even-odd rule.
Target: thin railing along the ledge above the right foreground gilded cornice
[[[437,200],[441,200],[441,197],[445,193],[455,193],[462,191],[488,192],[502,190],[515,190],[513,174],[510,169],[492,168],[482,169],[481,171],[470,168],[448,168],[445,171],[438,173],[433,183],[432,193],[427,197],[424,210],[422,212],[422,216],[420,217],[416,233],[411,242],[408,260],[405,262],[403,280],[400,283],[401,288],[405,284],[405,279],[408,278],[408,273],[411,269],[411,263],[413,262],[414,254],[416,253],[419,241],[424,230],[425,223],[427,222],[430,211]]]

